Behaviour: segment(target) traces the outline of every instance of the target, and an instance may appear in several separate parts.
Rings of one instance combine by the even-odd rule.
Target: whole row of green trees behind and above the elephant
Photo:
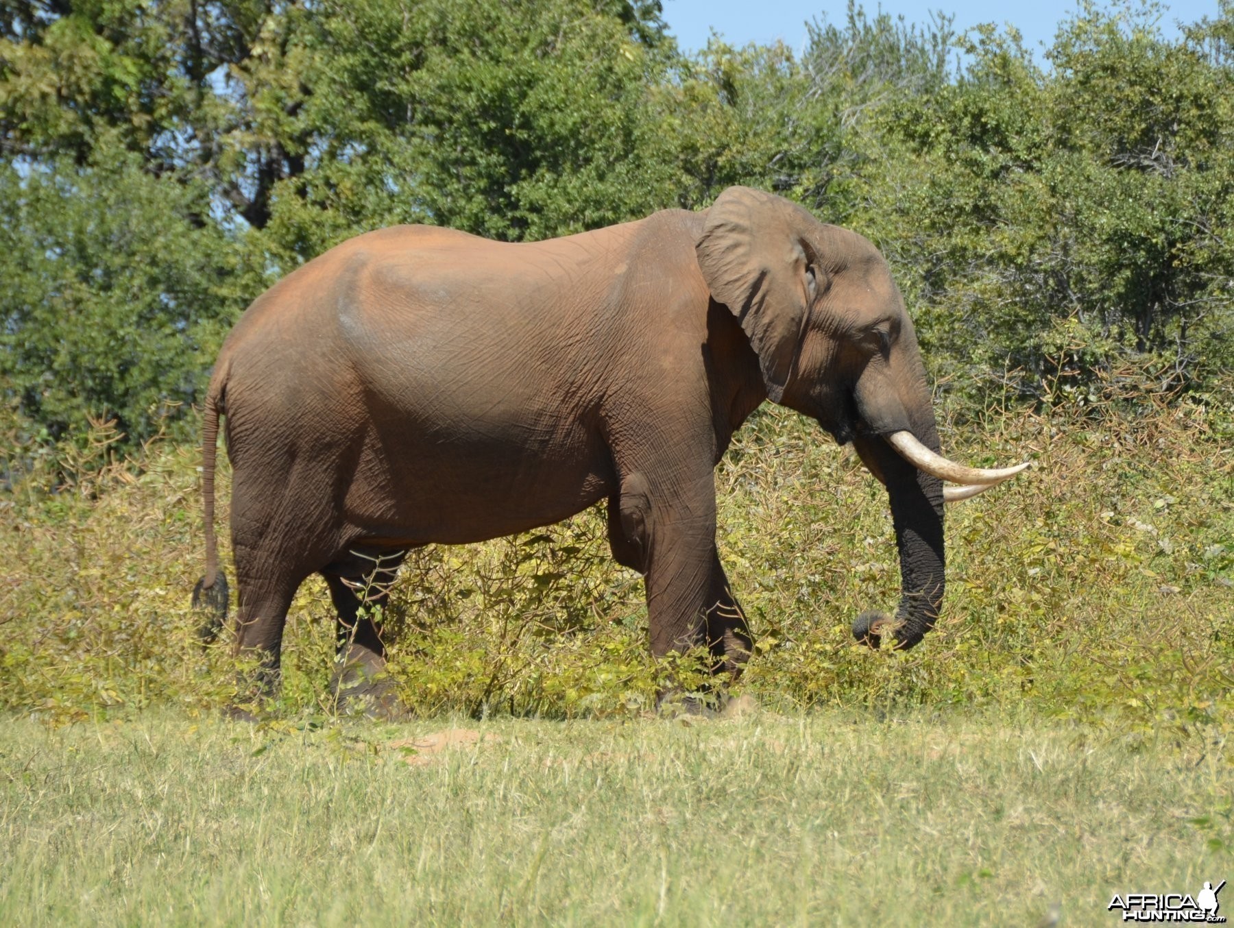
[[[654,0],[14,0],[4,415],[139,441],[199,397],[249,300],[365,230],[544,238],[729,184],[869,236],[953,389],[1127,360],[1215,389],[1234,6],[1178,38],[1159,17],[1086,5],[1038,60],[1013,31],[850,5],[800,53],[686,56]]]

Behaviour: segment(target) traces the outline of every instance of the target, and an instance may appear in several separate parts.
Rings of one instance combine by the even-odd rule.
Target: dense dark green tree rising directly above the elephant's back
[[[270,242],[307,257],[364,228],[542,238],[654,209],[647,88],[673,44],[659,4],[327,2],[297,39],[313,88],[306,170]]]

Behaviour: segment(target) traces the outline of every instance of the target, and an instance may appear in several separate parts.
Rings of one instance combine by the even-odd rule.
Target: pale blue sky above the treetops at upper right
[[[747,42],[769,43],[780,38],[793,51],[800,51],[806,38],[805,21],[822,19],[842,23],[848,9],[845,0],[663,0],[664,19],[669,31],[685,51],[707,44],[710,27],[731,44]],[[877,0],[863,4],[868,14],[879,9]],[[1024,36],[1025,47],[1038,52],[1054,38],[1059,22],[1071,16],[1076,0],[1034,0],[1029,4],[997,4],[990,0],[950,0],[921,4],[907,0],[884,0],[882,10],[909,22],[928,22],[932,10],[955,15],[955,28],[963,32],[979,22],[1012,23]],[[1161,4],[1161,23],[1169,36],[1177,35],[1175,21],[1193,22],[1203,16],[1217,16],[1218,0],[1175,0]]]

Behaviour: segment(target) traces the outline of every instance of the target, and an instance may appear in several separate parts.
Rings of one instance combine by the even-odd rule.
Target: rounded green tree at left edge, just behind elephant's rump
[[[0,396],[46,438],[139,439],[196,399],[257,281],[199,202],[131,154],[0,168]]]

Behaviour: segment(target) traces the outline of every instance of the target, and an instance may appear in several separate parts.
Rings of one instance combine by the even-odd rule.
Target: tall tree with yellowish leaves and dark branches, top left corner
[[[274,184],[302,169],[302,14],[267,0],[15,0],[0,14],[0,152],[84,165],[105,139],[154,174],[207,181],[262,227]]]

